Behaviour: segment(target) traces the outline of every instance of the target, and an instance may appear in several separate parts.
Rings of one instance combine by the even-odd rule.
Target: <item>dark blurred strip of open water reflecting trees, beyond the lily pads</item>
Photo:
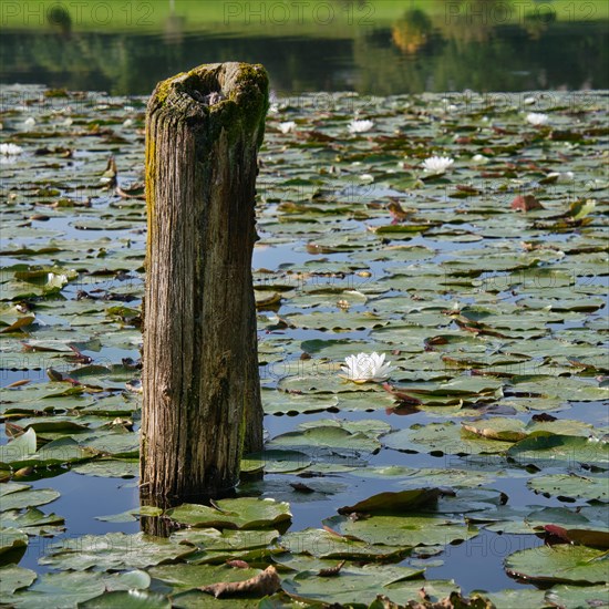
[[[471,0],[472,1],[472,0]],[[491,7],[495,0],[476,0]],[[458,18],[458,19],[457,19]],[[461,19],[461,21],[460,21]],[[3,82],[37,82],[115,94],[149,93],[156,82],[216,61],[264,63],[276,90],[354,89],[403,93],[463,89],[607,89],[606,22],[522,20],[488,24],[455,16],[404,13],[391,28],[361,30],[351,39],[183,33],[41,34],[4,31]],[[543,28],[539,27],[541,22]],[[169,43],[171,40],[171,43]]]

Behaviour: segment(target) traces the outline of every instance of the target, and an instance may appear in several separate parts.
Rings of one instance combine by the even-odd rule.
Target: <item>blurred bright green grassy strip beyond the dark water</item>
[[[527,25],[551,22],[598,22],[609,19],[603,0],[368,0],[307,2],[272,0],[259,2],[206,0],[153,0],[147,2],[106,0],[32,0],[6,2],[0,10],[4,30],[70,32],[155,32],[177,28],[183,32],[213,30],[223,34],[248,32],[266,35],[323,34],[354,37],[361,29],[386,27],[406,12],[424,12],[435,27]]]

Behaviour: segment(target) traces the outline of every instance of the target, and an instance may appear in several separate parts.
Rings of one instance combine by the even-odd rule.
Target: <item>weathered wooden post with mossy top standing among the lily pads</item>
[[[202,65],[161,82],[146,118],[142,492],[217,496],[262,447],[256,304],[261,65]]]

